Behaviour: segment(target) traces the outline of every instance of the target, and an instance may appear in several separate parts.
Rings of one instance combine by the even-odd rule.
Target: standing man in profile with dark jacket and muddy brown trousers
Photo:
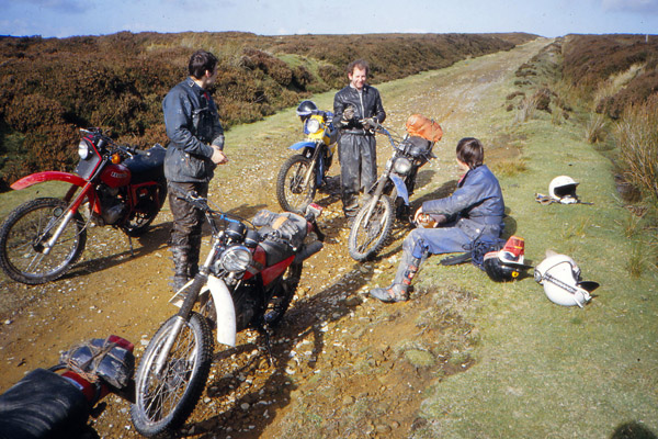
[[[173,289],[180,290],[198,270],[203,213],[184,200],[190,191],[207,196],[208,182],[224,154],[224,128],[217,106],[206,91],[217,78],[217,58],[197,50],[190,58],[190,76],[174,86],[162,101],[167,136],[164,177],[173,215],[170,248],[173,256]]]

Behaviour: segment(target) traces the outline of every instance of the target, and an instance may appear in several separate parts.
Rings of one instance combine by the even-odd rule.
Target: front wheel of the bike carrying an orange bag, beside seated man
[[[375,205],[368,217],[373,203]],[[386,195],[382,195],[378,200],[372,199],[359,210],[348,239],[348,249],[352,259],[366,260],[384,247],[393,227],[393,204]]]

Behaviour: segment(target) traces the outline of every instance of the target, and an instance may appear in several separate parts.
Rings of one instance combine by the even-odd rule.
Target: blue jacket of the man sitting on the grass
[[[480,235],[498,238],[504,228],[502,191],[485,165],[466,172],[452,195],[422,203],[422,211],[445,215],[472,239]]]

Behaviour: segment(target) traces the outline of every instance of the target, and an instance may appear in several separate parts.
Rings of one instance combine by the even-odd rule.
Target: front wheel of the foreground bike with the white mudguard
[[[135,375],[133,424],[143,436],[179,428],[192,414],[203,392],[213,359],[213,333],[205,317],[192,313],[173,341],[162,370],[156,362],[179,316],[169,318],[148,344]]]

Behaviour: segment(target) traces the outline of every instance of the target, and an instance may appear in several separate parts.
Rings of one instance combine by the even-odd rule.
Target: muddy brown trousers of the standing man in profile
[[[169,248],[173,259],[174,291],[181,289],[198,271],[204,214],[182,199],[181,194],[190,191],[205,198],[208,194],[208,183],[169,182],[169,206],[173,215]]]

